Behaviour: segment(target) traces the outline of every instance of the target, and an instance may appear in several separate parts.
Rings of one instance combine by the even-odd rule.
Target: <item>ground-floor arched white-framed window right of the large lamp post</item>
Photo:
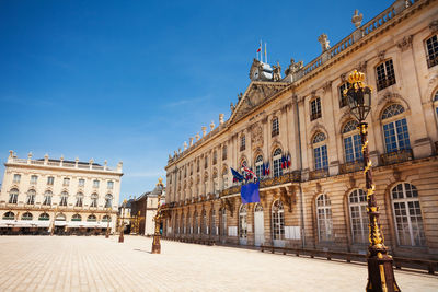
[[[399,245],[424,246],[426,238],[417,188],[403,183],[396,185],[391,194]]]

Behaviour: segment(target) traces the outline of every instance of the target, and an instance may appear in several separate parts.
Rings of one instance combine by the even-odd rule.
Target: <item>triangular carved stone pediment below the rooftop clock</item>
[[[245,116],[249,112],[263,104],[265,101],[270,100],[288,85],[288,83],[281,82],[252,82],[235,106],[230,121]]]

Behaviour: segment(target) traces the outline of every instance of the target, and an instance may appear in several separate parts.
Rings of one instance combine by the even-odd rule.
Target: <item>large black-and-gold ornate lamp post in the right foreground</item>
[[[367,291],[400,291],[394,278],[392,257],[383,243],[379,223],[379,207],[372,183],[371,161],[368,151],[368,124],[365,121],[371,109],[371,89],[364,83],[365,74],[356,70],[349,74],[349,87],[344,91],[348,98],[350,113],[359,121],[358,129],[362,143],[364,174],[367,187],[367,211],[369,218],[368,283]]]

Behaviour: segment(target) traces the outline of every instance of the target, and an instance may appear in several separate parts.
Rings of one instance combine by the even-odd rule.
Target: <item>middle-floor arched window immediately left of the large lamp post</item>
[[[345,161],[355,162],[362,160],[362,143],[357,129],[357,121],[348,121],[343,130]]]

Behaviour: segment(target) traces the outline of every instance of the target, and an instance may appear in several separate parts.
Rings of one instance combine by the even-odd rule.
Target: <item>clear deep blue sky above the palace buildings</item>
[[[0,1],[0,161],[124,162],[120,200],[250,83],[260,39],[283,71],[392,1]],[[0,179],[4,166],[0,166]]]

